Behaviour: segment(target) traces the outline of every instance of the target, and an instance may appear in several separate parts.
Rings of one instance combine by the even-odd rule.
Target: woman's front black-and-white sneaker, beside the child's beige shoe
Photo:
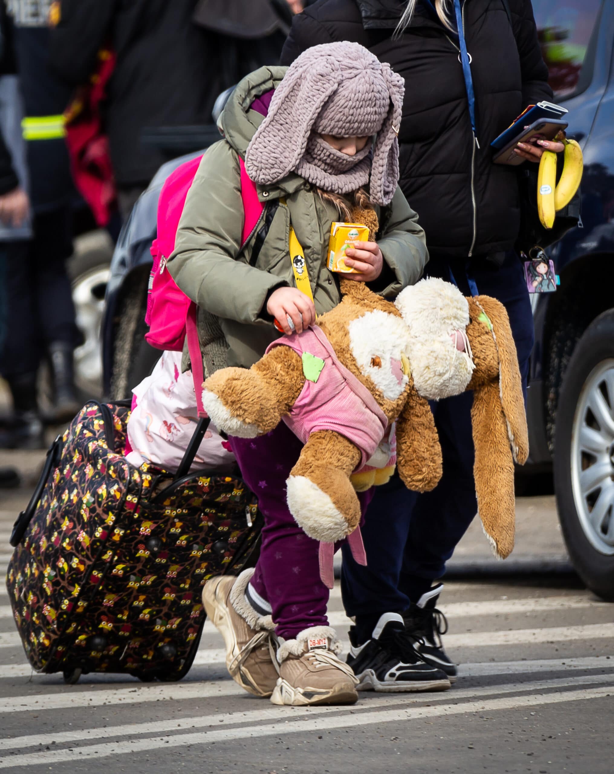
[[[393,693],[450,687],[446,673],[424,663],[413,649],[399,613],[384,613],[372,638],[362,645],[358,645],[355,626],[351,626],[350,643],[348,664],[360,681],[357,690]]]

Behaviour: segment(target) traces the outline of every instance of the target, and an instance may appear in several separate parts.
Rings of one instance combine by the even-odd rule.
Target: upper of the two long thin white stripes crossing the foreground
[[[454,690],[454,701],[470,699],[475,697],[499,696],[502,694],[514,694],[520,691],[540,690],[561,690],[563,688],[579,686],[588,686],[596,683],[614,683],[614,674],[609,675],[589,675],[578,678],[561,678],[558,680],[540,680],[533,683],[511,683],[505,686],[488,686],[482,688],[461,688]],[[364,696],[364,694],[363,694]],[[437,704],[450,704],[451,695],[433,694],[425,697],[424,694],[397,694],[394,697],[376,697],[365,700],[365,704],[358,704],[358,709],[375,709],[376,707],[391,707],[394,704],[419,704],[424,702]],[[196,717],[182,717],[180,723],[178,718],[165,721],[148,721],[146,723],[122,724],[118,726],[105,726],[104,728],[84,728],[70,731],[53,731],[48,735],[33,734],[13,738],[0,739],[0,750],[10,750],[15,748],[44,746],[44,745],[63,745],[71,741],[87,741],[90,739],[115,738],[118,736],[134,737],[143,734],[161,734],[164,731],[177,731],[178,728],[204,728],[211,727],[214,724],[226,723],[233,725],[238,723],[249,723],[259,721],[271,721],[278,718],[291,720],[294,717],[310,714],[338,714],[347,712],[347,707],[292,707],[290,712],[288,707],[271,707],[246,712],[220,713],[213,715],[198,715]]]

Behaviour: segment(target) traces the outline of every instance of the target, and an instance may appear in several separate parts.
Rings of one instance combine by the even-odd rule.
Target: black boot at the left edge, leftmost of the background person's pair
[[[36,374],[7,376],[13,416],[0,430],[0,449],[44,449],[43,423],[36,402]]]

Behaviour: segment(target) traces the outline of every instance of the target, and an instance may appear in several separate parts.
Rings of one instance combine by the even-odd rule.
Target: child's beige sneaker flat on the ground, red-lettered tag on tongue
[[[341,643],[334,629],[312,626],[297,639],[282,642],[277,651],[280,678],[271,696],[273,704],[355,704],[358,680],[352,667],[337,657]]]

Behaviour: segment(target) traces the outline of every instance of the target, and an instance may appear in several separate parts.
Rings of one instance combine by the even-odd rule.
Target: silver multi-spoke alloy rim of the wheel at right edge
[[[593,368],[571,430],[571,488],[588,542],[614,555],[614,359]]]

